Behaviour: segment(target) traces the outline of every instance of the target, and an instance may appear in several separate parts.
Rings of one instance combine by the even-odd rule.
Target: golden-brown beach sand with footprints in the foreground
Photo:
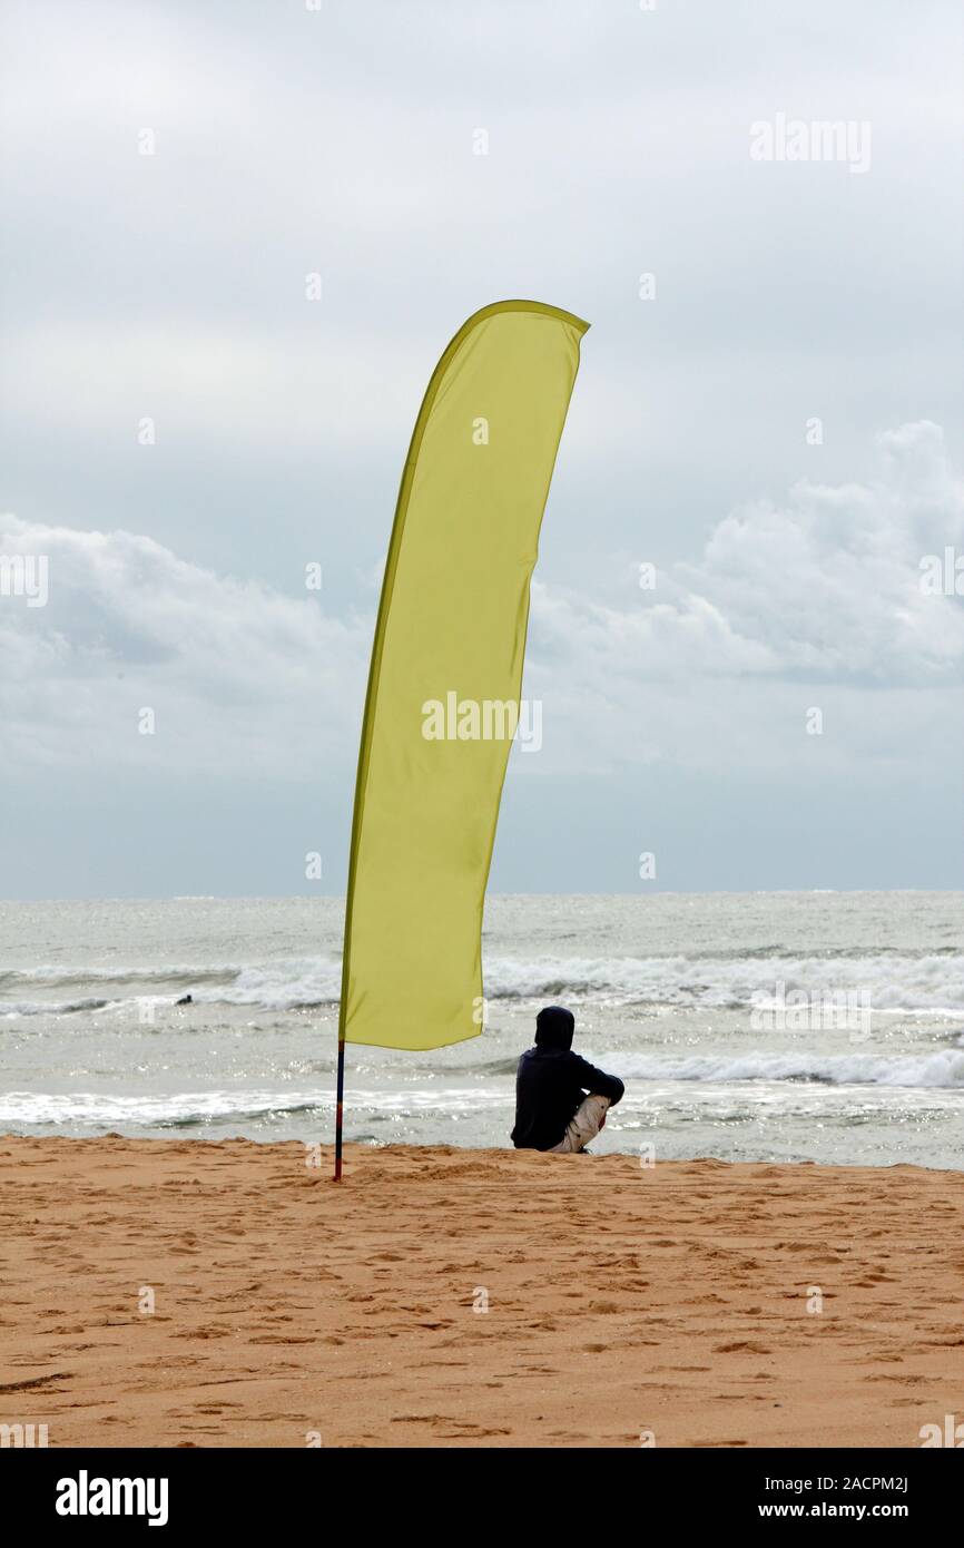
[[[115,1138],[0,1167],[0,1423],[51,1446],[918,1446],[964,1415],[962,1173],[350,1146],[336,1186],[330,1150]]]

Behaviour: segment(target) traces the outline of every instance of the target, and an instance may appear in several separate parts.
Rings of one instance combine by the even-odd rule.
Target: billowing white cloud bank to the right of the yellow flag
[[[922,590],[921,559],[964,556],[964,486],[936,424],[877,446],[874,483],[805,481],[733,511],[634,607],[537,582],[526,694],[545,701],[546,757],[528,771],[959,759],[964,605]],[[820,738],[803,731],[812,706]]]

